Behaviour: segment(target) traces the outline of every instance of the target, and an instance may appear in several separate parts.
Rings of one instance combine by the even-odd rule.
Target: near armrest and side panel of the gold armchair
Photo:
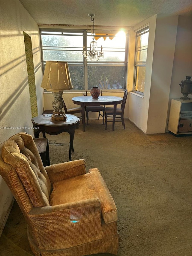
[[[34,207],[27,218],[31,223],[29,230],[36,233],[39,245],[44,246],[50,233],[54,237],[50,239],[49,245],[46,244],[46,250],[49,249],[47,246],[52,250],[68,248],[102,239],[103,236],[100,201],[97,197],[74,203]]]

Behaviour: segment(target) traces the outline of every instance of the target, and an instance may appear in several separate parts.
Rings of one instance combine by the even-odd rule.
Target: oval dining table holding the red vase
[[[74,104],[81,105],[81,116],[82,116],[82,124],[83,131],[85,131],[85,106],[99,106],[99,105],[113,105],[113,131],[115,130],[115,117],[117,105],[121,104],[123,98],[116,96],[99,96],[98,99],[93,99],[92,96],[78,96],[72,98]]]

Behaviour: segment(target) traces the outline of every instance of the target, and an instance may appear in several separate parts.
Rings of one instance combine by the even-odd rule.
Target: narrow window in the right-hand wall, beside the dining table
[[[145,88],[149,27],[137,32],[135,50],[134,91],[143,94]]]

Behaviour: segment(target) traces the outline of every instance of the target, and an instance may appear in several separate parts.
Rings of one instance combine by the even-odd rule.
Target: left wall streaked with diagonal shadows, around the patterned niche
[[[21,131],[33,135],[33,129],[4,129],[4,127],[32,126],[23,31],[32,39],[39,113],[43,111],[43,93],[42,89],[38,89],[41,85],[42,69],[37,23],[18,0],[0,0],[0,17],[0,143],[2,143]],[[0,232],[12,200],[13,196],[0,176]]]

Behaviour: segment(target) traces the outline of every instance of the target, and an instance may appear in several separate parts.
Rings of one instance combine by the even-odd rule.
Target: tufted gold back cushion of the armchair
[[[24,132],[11,137],[4,143],[2,158],[15,167],[33,206],[49,206],[51,183],[33,137]]]

